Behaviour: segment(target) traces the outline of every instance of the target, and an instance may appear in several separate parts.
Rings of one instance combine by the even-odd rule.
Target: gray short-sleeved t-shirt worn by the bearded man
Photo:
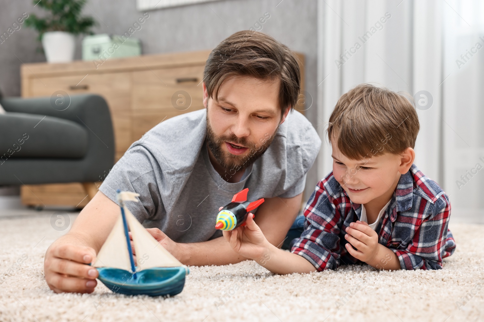
[[[235,183],[213,168],[206,126],[205,109],[158,124],[131,145],[99,190],[115,202],[117,189],[140,194],[141,202],[128,201],[128,209],[143,226],[157,227],[176,242],[222,236],[215,230],[218,208],[244,188],[250,201],[302,193],[321,140],[301,113],[288,114],[266,152]]]

